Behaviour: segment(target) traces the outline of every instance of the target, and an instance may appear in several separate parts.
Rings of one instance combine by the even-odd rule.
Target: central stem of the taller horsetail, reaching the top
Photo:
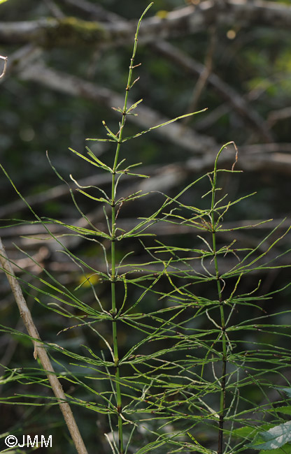
[[[152,3],[148,6],[150,8]],[[127,87],[125,89],[125,104],[122,109],[122,120],[120,122],[120,129],[118,131],[117,137],[118,142],[115,150],[115,158],[113,163],[113,168],[111,170],[112,180],[111,180],[111,314],[112,314],[112,335],[113,335],[113,356],[114,356],[114,365],[115,365],[115,390],[116,390],[116,405],[118,412],[118,441],[119,441],[119,454],[124,453],[123,448],[123,427],[122,427],[122,393],[120,386],[120,360],[118,353],[118,329],[117,329],[117,309],[116,309],[116,256],[115,256],[115,240],[116,240],[116,170],[118,168],[118,158],[120,154],[120,145],[122,144],[122,135],[123,129],[125,126],[125,120],[127,116],[127,100],[129,90],[132,85],[132,71],[134,70],[134,58],[136,55],[136,47],[139,35],[139,27],[141,25],[141,20],[143,15],[146,14],[148,8],[143,12],[139,23],[136,27],[136,35],[134,38],[134,50],[132,52],[132,58],[130,59],[129,66],[129,75],[127,79]]]

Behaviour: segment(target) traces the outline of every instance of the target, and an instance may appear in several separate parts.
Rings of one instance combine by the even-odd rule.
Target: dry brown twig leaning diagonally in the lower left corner
[[[48,376],[50,386],[52,387],[52,391],[55,394],[55,397],[57,397],[57,400],[59,402],[59,408],[62,411],[64,420],[71,434],[73,443],[76,446],[76,451],[78,452],[78,454],[87,454],[87,449],[85,447],[84,441],[78,429],[78,425],[76,424],[76,420],[73,417],[71,407],[69,406],[68,402],[66,402],[66,396],[62,389],[62,385],[61,383],[59,383],[59,380],[57,379],[57,375],[55,374],[55,370],[52,367],[52,363],[50,363],[50,358],[48,358],[48,353],[46,353],[43,343],[41,342],[41,338],[38,335],[38,330],[36,329],[36,325],[34,325],[34,321],[32,320],[31,317],[31,312],[29,311],[27,303],[24,300],[24,296],[22,295],[20,284],[18,284],[18,281],[13,272],[12,265],[6,255],[5,249],[3,248],[1,238],[0,238],[0,263],[9,281],[11,290],[13,291],[13,295],[15,297],[15,301],[20,311],[20,316],[24,322],[25,328],[27,329],[29,336],[31,336],[32,338],[32,342],[34,344],[34,359],[36,359],[37,357],[39,358],[39,360],[41,361],[41,365],[43,366],[43,369],[45,370],[45,373]]]

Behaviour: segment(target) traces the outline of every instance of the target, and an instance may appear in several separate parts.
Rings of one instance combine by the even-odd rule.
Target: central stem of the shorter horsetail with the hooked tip
[[[224,147],[222,147],[223,149]],[[212,228],[212,247],[213,247],[213,258],[215,265],[215,277],[216,284],[218,289],[218,300],[220,302],[220,323],[222,331],[222,375],[220,381],[220,410],[219,410],[219,430],[218,430],[218,454],[222,454],[223,450],[223,429],[225,423],[225,382],[226,382],[226,372],[227,372],[227,339],[225,335],[225,312],[223,308],[222,300],[222,288],[220,284],[220,275],[218,270],[218,259],[217,259],[217,249],[216,249],[216,224],[215,224],[215,191],[216,191],[216,179],[217,179],[217,163],[218,157],[215,160],[214,172],[213,172],[213,182],[212,182],[212,200],[211,200],[211,228]]]

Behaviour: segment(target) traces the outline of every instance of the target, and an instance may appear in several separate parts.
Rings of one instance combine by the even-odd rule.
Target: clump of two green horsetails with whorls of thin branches
[[[170,122],[125,136],[127,115],[136,115],[142,101],[127,105],[129,89],[136,82],[133,72],[140,23],[141,20],[125,102],[122,108],[115,107],[121,115],[120,124],[113,130],[104,121],[106,137],[88,139],[115,146],[112,162],[99,159],[89,147],[87,154],[71,148],[82,162],[111,176],[108,191],[81,186],[71,177],[78,193],[101,204],[107,229],[100,230],[83,214],[71,189],[85,226],[39,217],[29,207],[35,217],[31,224],[44,226],[62,254],[78,265],[82,279],[76,288],[70,288],[41,267],[41,273],[34,277],[38,284],[32,274],[22,284],[38,307],[62,318],[57,342],[43,342],[43,346],[68,388],[68,401],[82,414],[97,414],[99,420],[106,416],[106,452],[234,454],[253,448],[276,453],[291,441],[291,423],[282,423],[281,416],[274,413],[268,392],[278,377],[288,383],[285,373],[291,359],[290,326],[277,320],[282,314],[290,314],[290,310],[276,311],[279,290],[260,292],[260,275],[266,270],[289,267],[278,265],[278,256],[271,253],[290,228],[280,237],[278,227],[274,228],[254,247],[241,247],[236,239],[229,239],[236,230],[250,227],[225,226],[229,212],[249,197],[228,196],[222,190],[223,178],[239,173],[235,170],[238,153],[233,142],[220,148],[211,172],[197,177],[176,196],[155,194],[162,203],[152,214],[139,217],[128,229],[120,227],[123,208],[152,195],[141,191],[119,193],[118,184],[125,175],[147,177],[132,170],[139,164],[125,163],[122,150],[127,141],[198,113],[179,115]],[[234,165],[222,169],[219,159],[227,147],[234,149]],[[195,190],[200,185],[207,186],[202,196],[205,207],[194,203]],[[166,244],[150,230],[159,223],[192,228],[190,240],[182,238],[176,244]],[[92,242],[103,257],[105,271],[68,249],[63,238],[52,232],[51,224],[66,229],[64,237],[76,235]],[[124,244],[130,244],[129,249]],[[136,244],[146,254],[145,261],[130,260]],[[288,252],[283,251],[281,256]],[[39,265],[27,252],[24,254]],[[225,258],[229,256],[233,258],[232,265],[225,268]],[[255,276],[255,284],[252,281],[249,291],[241,291],[250,276]],[[85,298],[86,288],[92,292],[93,303]],[[204,293],[202,288],[206,289]],[[271,300],[275,302],[274,309],[267,313],[262,305]],[[1,330],[9,335],[18,333],[13,328]],[[84,330],[88,339],[94,340],[83,345],[77,337],[75,344],[69,342],[71,332],[78,330]],[[122,343],[124,332],[129,339]],[[25,344],[29,336],[20,335]],[[45,407],[57,403],[45,395],[48,381],[35,365],[7,368],[2,380],[3,385],[21,383],[30,389],[32,384],[38,390],[4,396],[2,403]],[[290,388],[280,390],[291,397]],[[262,403],[264,399],[266,402]],[[283,408],[277,411],[289,414],[290,407]],[[267,429],[261,427],[262,423],[268,423]]]

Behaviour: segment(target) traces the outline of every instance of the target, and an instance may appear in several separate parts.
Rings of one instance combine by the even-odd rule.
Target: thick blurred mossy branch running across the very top
[[[211,24],[243,27],[254,25],[290,29],[291,7],[263,0],[207,0],[168,13],[162,19],[143,20],[139,41],[150,43],[204,31]],[[0,22],[0,43],[34,42],[44,47],[123,45],[132,42],[136,21],[114,24],[83,21],[76,17],[48,18],[29,22]]]

